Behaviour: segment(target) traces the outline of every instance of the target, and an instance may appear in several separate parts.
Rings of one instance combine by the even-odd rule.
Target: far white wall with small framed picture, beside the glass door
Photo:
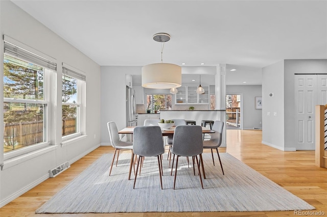
[[[227,85],[226,94],[242,95],[243,129],[262,128],[262,110],[254,106],[254,98],[262,96],[261,85]]]

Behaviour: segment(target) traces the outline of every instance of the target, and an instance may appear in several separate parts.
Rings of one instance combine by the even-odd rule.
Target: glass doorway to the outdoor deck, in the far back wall
[[[226,95],[226,129],[242,129],[241,94]]]

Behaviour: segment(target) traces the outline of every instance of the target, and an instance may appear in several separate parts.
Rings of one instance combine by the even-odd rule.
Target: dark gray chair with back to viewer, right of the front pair
[[[202,152],[203,152],[202,127],[198,126],[198,125],[176,126],[175,132],[174,132],[174,138],[173,138],[173,145],[171,148],[171,153],[174,154],[172,171],[173,171],[173,167],[174,167],[175,155],[177,155],[175,178],[174,178],[174,189],[175,189],[175,184],[176,184],[178,158],[180,156],[185,156],[185,157],[192,156],[194,173],[195,173],[194,158],[196,159],[198,171],[199,171],[199,177],[200,177],[200,181],[201,181],[201,186],[203,188],[201,172],[200,172],[200,164],[201,164],[202,172],[204,175]],[[200,164],[199,164],[197,155],[200,156]]]

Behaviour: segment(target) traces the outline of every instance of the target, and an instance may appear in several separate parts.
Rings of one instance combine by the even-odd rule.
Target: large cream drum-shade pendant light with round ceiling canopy
[[[164,50],[165,42],[170,40],[170,35],[167,33],[158,33],[153,36],[153,40],[162,43],[161,63],[149,64],[142,67],[142,87],[152,89],[180,87],[182,83],[181,67],[175,64],[162,63],[162,51]]]

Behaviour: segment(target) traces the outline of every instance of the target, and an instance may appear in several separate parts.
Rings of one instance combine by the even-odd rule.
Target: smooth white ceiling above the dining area
[[[327,58],[326,1],[12,2],[101,66],[161,62],[162,32],[163,62],[227,64],[238,84],[284,59]]]

